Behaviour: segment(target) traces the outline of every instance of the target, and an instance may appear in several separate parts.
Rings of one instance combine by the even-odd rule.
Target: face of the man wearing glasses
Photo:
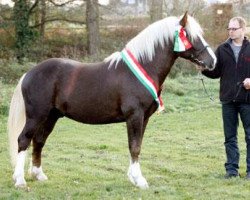
[[[228,35],[232,40],[244,37],[245,28],[242,28],[237,20],[230,21],[228,24]]]

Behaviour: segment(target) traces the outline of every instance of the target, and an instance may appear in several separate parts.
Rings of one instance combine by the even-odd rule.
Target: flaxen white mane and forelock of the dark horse
[[[128,48],[138,60],[152,61],[155,55],[155,47],[160,45],[164,48],[165,44],[173,42],[175,27],[179,25],[179,18],[168,17],[157,21],[147,28],[142,30],[136,37],[131,39],[126,48]],[[203,34],[200,25],[191,16],[188,16],[188,21],[185,29],[187,30],[191,41]],[[105,62],[110,61],[110,66],[118,63],[121,60],[120,52],[115,52],[105,58]]]

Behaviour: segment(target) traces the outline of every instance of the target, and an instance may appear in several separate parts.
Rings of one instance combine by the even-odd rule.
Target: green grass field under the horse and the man
[[[43,183],[26,174],[28,189],[15,189],[9,163],[6,121],[0,115],[0,199],[248,199],[250,182],[224,180],[225,152],[218,80],[205,80],[209,100],[196,77],[166,81],[166,111],[146,129],[141,168],[150,188],[128,180],[126,126],[83,125],[60,120],[44,147]],[[8,89],[10,88],[10,89]],[[1,95],[13,86],[2,84]],[[8,105],[10,96],[2,95]],[[245,142],[239,129],[240,173],[245,175]],[[26,170],[27,171],[27,170]]]

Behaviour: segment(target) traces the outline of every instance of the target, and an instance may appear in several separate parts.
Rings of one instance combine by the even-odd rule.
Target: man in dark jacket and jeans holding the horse
[[[230,19],[227,30],[228,40],[215,52],[218,59],[215,69],[202,73],[209,78],[220,78],[220,101],[227,158],[225,178],[239,176],[237,128],[240,116],[247,146],[246,178],[250,180],[250,43],[245,37],[244,18]]]

